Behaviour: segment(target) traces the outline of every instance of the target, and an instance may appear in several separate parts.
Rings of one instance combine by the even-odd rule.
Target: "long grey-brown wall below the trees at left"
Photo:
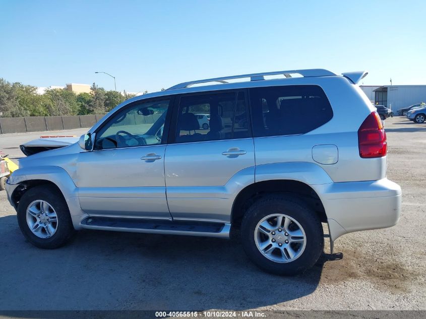
[[[104,115],[0,117],[0,134],[62,131],[92,127]]]

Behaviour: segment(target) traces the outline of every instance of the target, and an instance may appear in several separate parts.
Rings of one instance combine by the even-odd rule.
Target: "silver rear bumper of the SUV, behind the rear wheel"
[[[399,220],[401,187],[387,178],[317,186],[332,240],[353,231],[392,227]]]

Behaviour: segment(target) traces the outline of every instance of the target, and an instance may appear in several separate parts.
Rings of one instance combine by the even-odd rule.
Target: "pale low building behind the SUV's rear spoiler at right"
[[[359,86],[374,104],[397,110],[412,104],[426,102],[426,85]]]

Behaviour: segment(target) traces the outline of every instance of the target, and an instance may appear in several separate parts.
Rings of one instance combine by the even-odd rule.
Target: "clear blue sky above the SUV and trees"
[[[217,76],[368,70],[426,84],[426,2],[0,0],[0,77],[158,91]]]

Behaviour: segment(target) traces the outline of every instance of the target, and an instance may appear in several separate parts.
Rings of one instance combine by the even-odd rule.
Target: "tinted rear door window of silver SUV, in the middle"
[[[247,138],[248,127],[244,92],[180,98],[176,143]]]

